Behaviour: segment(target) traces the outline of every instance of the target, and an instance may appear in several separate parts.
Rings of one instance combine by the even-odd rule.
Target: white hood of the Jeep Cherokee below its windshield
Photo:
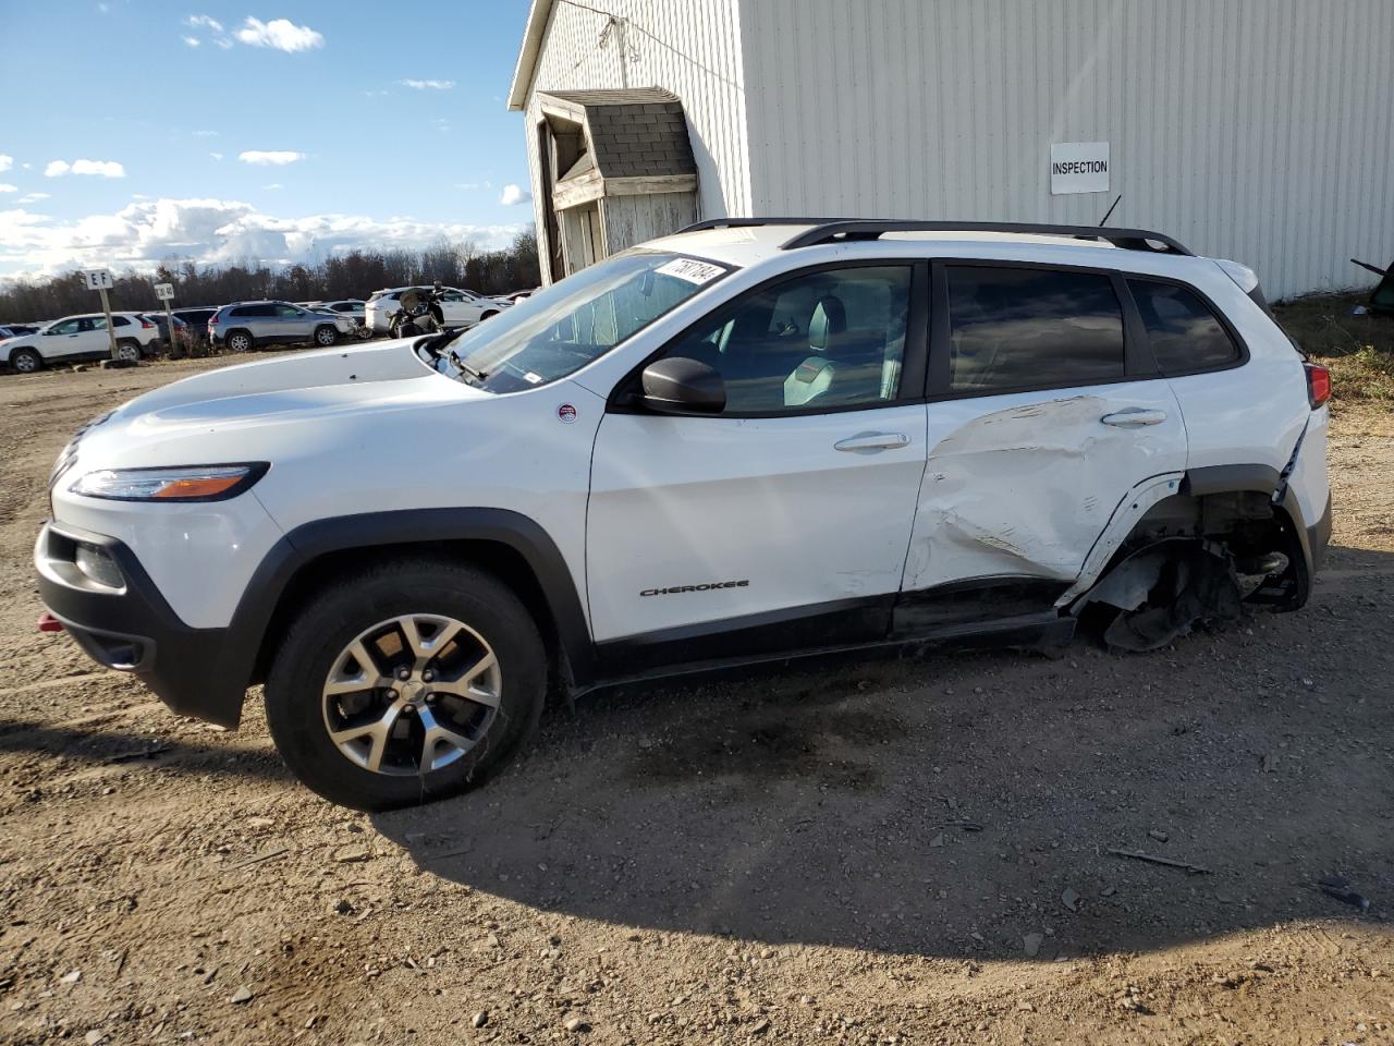
[[[265,456],[335,418],[403,414],[492,395],[427,368],[411,340],[328,349],[224,367],[148,392],[86,430],[100,467]],[[212,460],[212,459],[209,459]]]

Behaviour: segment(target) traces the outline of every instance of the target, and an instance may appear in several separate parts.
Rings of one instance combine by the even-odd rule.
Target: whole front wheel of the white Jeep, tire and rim
[[[464,791],[531,734],[546,649],[489,573],[396,561],[343,580],[296,618],[266,679],[291,771],[330,802],[386,810]]]

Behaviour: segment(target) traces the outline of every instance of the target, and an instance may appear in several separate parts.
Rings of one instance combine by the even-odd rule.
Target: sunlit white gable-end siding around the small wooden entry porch
[[[585,6],[629,20],[627,75],[622,74],[615,35],[604,47],[599,43],[606,17],[558,0],[527,105],[534,198],[541,192],[538,91],[658,86],[682,99],[703,213],[747,213],[751,202],[737,0],[585,0]]]

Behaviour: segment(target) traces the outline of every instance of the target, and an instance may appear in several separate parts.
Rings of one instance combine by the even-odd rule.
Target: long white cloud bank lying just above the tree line
[[[282,218],[231,199],[142,199],[77,220],[14,208],[0,211],[0,272],[50,275],[89,264],[151,271],[171,257],[290,264],[354,247],[418,250],[442,237],[488,250],[507,245],[521,229],[335,213]]]

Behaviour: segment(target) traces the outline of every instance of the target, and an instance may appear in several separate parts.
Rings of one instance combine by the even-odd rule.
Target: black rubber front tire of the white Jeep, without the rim
[[[499,707],[473,748],[425,774],[371,771],[329,736],[325,683],[342,651],[365,629],[401,615],[453,618],[498,660]],[[291,773],[325,799],[389,810],[456,795],[480,784],[537,728],[546,696],[546,647],[513,591],[477,568],[447,559],[397,559],[321,591],[294,619],[266,679],[266,721]]]

